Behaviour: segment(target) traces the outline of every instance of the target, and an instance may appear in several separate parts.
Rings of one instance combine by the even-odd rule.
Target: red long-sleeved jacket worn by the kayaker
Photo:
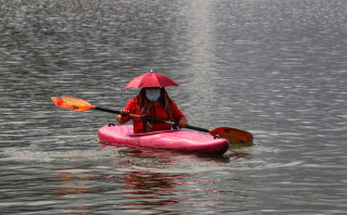
[[[174,116],[174,119],[175,119],[175,122],[179,122],[180,117],[184,116],[184,115],[181,113],[181,111],[178,109],[177,104],[172,100],[170,100],[170,102],[171,102],[171,114]],[[128,102],[128,104],[125,106],[124,110],[129,110],[129,112],[132,114],[142,115],[140,109],[141,108],[137,104],[137,98],[132,98]],[[162,103],[159,103],[157,106],[153,106],[151,103],[149,105],[149,111],[145,116],[150,116],[153,118],[159,118],[159,119],[164,119],[164,121],[169,121],[169,116],[168,116],[168,114]],[[128,121],[130,121],[130,118]],[[123,123],[125,124],[128,121],[123,122]],[[132,117],[132,122],[133,122],[133,132],[134,134],[145,131],[144,126],[143,126],[143,121],[141,118]],[[170,130],[170,129],[171,129],[171,125],[154,122],[151,131]]]

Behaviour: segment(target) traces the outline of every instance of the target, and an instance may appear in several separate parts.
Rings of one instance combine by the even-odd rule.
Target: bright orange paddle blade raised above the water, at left
[[[85,100],[77,99],[74,97],[63,96],[62,98],[51,98],[52,102],[59,108],[68,109],[72,111],[87,111],[89,109],[95,109]]]

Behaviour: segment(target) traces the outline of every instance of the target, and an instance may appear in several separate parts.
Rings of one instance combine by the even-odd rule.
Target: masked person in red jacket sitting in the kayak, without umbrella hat
[[[117,115],[117,122],[123,125],[132,119],[134,134],[170,130],[171,125],[131,117],[130,113],[177,122],[180,128],[188,125],[185,116],[169,98],[164,87],[142,88],[137,97],[130,99],[120,113]],[[172,128],[178,129],[177,126],[172,126]]]

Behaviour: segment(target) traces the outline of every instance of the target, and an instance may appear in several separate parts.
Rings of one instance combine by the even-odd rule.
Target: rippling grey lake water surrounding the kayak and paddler
[[[3,214],[345,214],[347,1],[0,0]],[[223,156],[104,148],[150,69],[190,125],[236,127]]]

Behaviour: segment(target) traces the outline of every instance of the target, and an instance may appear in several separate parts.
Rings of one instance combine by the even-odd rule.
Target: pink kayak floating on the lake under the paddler
[[[183,153],[221,155],[229,149],[226,139],[214,139],[210,135],[183,129],[133,134],[132,125],[106,125],[99,129],[98,136],[107,146],[125,144]]]

